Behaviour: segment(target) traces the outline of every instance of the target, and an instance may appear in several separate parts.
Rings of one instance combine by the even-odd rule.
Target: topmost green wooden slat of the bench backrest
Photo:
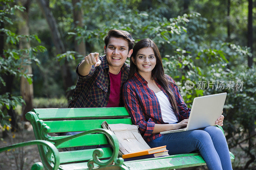
[[[97,119],[99,117],[129,117],[125,107],[102,108],[45,108],[33,109],[39,119]]]

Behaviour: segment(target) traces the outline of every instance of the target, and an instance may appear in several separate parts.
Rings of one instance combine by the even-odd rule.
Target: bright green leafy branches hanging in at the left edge
[[[15,11],[23,11],[25,8],[22,6],[13,5],[12,0],[2,0],[2,9],[0,10],[0,21],[2,23],[8,23],[13,25],[12,17],[15,15]],[[12,75],[15,78],[24,77],[28,80],[29,84],[32,84],[32,76],[24,70],[22,66],[29,65],[35,62],[39,65],[39,60],[36,58],[38,52],[45,52],[46,48],[44,46],[38,45],[31,48],[17,49],[17,46],[21,39],[27,41],[35,40],[41,43],[41,40],[37,35],[18,35],[9,29],[0,29],[0,32],[5,34],[5,49],[3,54],[0,54],[0,86],[6,86],[6,82],[3,78],[4,75]],[[3,93],[3,92],[2,92]],[[3,129],[6,126],[10,126],[10,116],[7,115],[6,109],[15,109],[17,105],[25,104],[21,96],[15,96],[10,93],[3,93],[0,95],[0,124]],[[6,108],[6,109],[5,109]]]

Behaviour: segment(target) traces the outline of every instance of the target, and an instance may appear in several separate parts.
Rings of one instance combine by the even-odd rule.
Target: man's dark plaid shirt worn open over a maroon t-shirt
[[[105,56],[99,56],[101,60],[100,66],[94,67],[87,76],[81,76],[78,73],[78,65],[76,73],[78,80],[72,101],[68,107],[106,107],[110,95],[109,67]],[[121,68],[121,89],[128,78],[130,67],[124,63]],[[120,94],[121,94],[120,89]],[[122,97],[120,96],[120,106],[123,106]]]

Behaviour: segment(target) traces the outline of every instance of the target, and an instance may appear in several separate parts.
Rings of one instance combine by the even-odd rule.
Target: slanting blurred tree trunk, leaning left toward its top
[[[52,41],[54,43],[54,46],[56,47],[57,54],[65,53],[66,49],[64,47],[63,41],[61,40],[60,31],[58,30],[58,26],[52,14],[52,11],[50,10],[45,0],[37,0],[37,3],[39,4],[41,11],[43,12],[44,17],[49,25],[52,35]],[[68,87],[73,85],[73,82],[67,60],[65,60],[65,63],[61,65],[61,75],[63,80],[63,87],[66,92],[66,97],[69,98],[72,96],[72,91],[67,91],[67,89]]]

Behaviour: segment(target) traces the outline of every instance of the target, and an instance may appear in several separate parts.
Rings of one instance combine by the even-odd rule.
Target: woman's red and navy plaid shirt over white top
[[[169,81],[174,80],[166,75]],[[155,124],[166,124],[163,121],[161,108],[156,94],[148,88],[148,82],[140,76],[138,72],[134,74],[123,86],[124,106],[128,110],[132,123],[139,125],[139,131],[146,142],[152,141],[162,134],[152,134]],[[168,100],[170,100],[166,91],[156,81],[156,85],[164,92]],[[178,112],[175,111],[179,122],[188,119],[190,108],[187,107],[182,99],[177,85],[169,83],[169,88],[174,93]],[[173,108],[173,106],[172,106]]]

